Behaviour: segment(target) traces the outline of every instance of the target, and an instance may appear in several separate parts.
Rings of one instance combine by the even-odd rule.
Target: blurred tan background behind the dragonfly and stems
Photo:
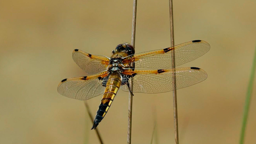
[[[208,78],[179,89],[180,143],[238,143],[256,45],[256,1],[174,1],[175,44],[204,40],[211,49],[179,67]],[[84,102],[57,92],[86,74],[75,48],[110,56],[131,41],[132,1],[0,2],[0,143],[99,143]],[[169,1],[139,0],[136,52],[170,47]],[[245,143],[256,141],[256,84]],[[102,96],[88,100],[95,116]],[[105,143],[126,143],[128,93],[119,91],[98,129]],[[174,143],[172,92],[135,93],[132,143]],[[155,141],[155,140],[154,140]]]

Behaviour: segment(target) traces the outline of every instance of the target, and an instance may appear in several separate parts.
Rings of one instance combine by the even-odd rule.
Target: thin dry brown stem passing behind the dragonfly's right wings
[[[174,46],[174,28],[173,28],[173,7],[172,0],[169,0],[170,6],[170,28],[171,28],[171,46]],[[172,68],[175,68],[175,54],[174,50],[172,52]],[[176,92],[176,77],[174,73],[173,77],[173,111],[174,111],[174,137],[175,144],[179,143],[179,135],[178,135],[178,111],[177,111],[177,92]]]

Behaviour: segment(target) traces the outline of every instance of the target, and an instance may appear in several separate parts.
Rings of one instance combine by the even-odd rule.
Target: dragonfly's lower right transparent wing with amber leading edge
[[[129,75],[129,83],[133,78],[133,92],[163,93],[173,91],[173,75],[176,75],[176,89],[188,87],[202,82],[207,74],[200,68],[176,68],[160,70],[127,69],[124,75]],[[121,86],[123,91],[129,92],[127,85]]]

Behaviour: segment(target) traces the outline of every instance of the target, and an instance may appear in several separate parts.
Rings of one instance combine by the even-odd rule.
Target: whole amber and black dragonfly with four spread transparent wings
[[[96,129],[120,88],[132,95],[136,92],[154,94],[188,87],[205,80],[207,73],[201,68],[172,68],[172,59],[174,53],[175,66],[179,66],[209,50],[209,43],[202,40],[137,54],[133,46],[123,43],[112,51],[110,58],[75,49],[72,57],[88,75],[63,79],[57,90],[61,95],[77,100],[88,100],[103,94],[91,128]],[[173,83],[174,77],[176,84]]]

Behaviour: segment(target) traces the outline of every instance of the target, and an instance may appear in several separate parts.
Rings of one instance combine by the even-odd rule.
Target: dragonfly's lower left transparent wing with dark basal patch
[[[107,76],[107,71],[102,71],[94,75],[63,79],[58,85],[58,93],[78,100],[88,100],[104,92],[102,83]]]

